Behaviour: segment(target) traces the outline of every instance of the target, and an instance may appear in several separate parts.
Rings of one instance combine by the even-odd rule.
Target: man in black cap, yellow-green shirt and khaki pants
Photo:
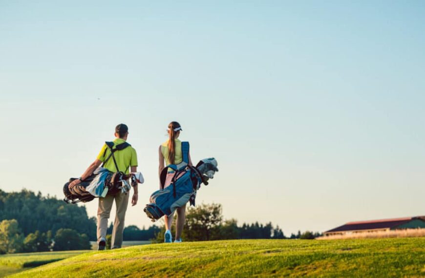
[[[112,148],[115,149],[117,145],[125,143],[127,136],[127,125],[123,123],[117,125],[115,127],[116,139],[113,141],[114,146]],[[121,171],[125,174],[128,174],[128,168],[130,168],[130,172],[137,172],[137,154],[133,147],[128,146],[122,150],[115,151],[112,158],[109,158],[110,155],[111,151],[105,144],[102,147],[102,150],[100,151],[96,160],[94,160],[94,162],[88,166],[87,170],[85,170],[84,174],[81,175],[79,179],[72,181],[70,186],[77,185],[82,180],[87,179],[87,177],[89,177],[93,171],[96,170],[106,159],[107,161],[103,167],[111,172]],[[137,185],[133,188],[134,193],[133,197],[131,198],[131,204],[134,206],[136,205],[138,199]],[[124,218],[126,217],[128,194],[123,194],[121,191],[118,191],[115,194],[108,193],[105,198],[99,198],[99,208],[97,211],[98,250],[105,250],[107,223],[114,200],[117,211],[114,221],[114,228],[112,230],[111,248],[121,248],[123,243]]]

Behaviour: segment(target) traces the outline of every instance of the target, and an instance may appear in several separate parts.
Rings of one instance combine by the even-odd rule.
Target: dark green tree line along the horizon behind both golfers
[[[43,197],[29,190],[7,193],[0,189],[0,253],[90,249],[96,241],[96,218],[89,218],[85,206],[67,204],[55,197]],[[174,225],[173,225],[174,226]],[[107,234],[112,233],[112,223]],[[165,226],[148,229],[130,225],[124,240],[164,241]],[[174,231],[172,231],[174,234]],[[306,231],[289,238],[313,239],[319,233]],[[241,226],[236,219],[224,219],[220,204],[189,207],[183,231],[186,241],[248,238],[287,238],[279,226],[258,222]]]

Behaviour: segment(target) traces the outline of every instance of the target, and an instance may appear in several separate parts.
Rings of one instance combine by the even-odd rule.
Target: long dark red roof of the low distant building
[[[335,229],[326,231],[325,233],[355,231],[355,230],[373,230],[373,229],[385,229],[385,228],[391,229],[399,225],[405,224],[413,219],[421,219],[425,221],[425,216],[348,222]]]

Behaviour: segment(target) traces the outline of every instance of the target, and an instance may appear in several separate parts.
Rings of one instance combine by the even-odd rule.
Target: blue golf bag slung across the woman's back
[[[188,201],[195,205],[196,191],[203,181],[201,173],[196,167],[189,165],[189,142],[182,142],[183,162],[177,165],[170,164],[160,174],[161,189],[150,196],[150,203],[144,212],[152,220],[158,220],[164,215],[170,216],[178,207]],[[174,171],[171,183],[164,188],[168,169]],[[171,172],[172,173],[172,172]]]

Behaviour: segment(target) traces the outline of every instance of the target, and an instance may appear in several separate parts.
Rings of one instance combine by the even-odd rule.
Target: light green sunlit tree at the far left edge
[[[23,247],[23,235],[16,219],[0,222],[0,254],[18,253]]]

